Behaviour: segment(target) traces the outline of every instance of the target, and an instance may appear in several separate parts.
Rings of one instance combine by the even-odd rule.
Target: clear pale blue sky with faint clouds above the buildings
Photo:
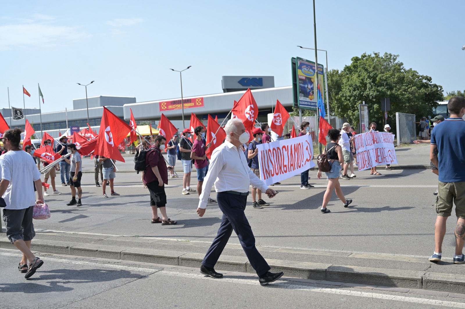
[[[465,1],[316,0],[329,69],[362,53],[399,54],[445,91],[464,90]],[[7,1],[0,12],[0,106],[44,112],[89,96],[138,102],[222,92],[222,75],[272,75],[291,85],[291,57],[314,59],[311,1]],[[456,14],[457,16],[454,16]],[[319,63],[324,63],[319,53]]]

